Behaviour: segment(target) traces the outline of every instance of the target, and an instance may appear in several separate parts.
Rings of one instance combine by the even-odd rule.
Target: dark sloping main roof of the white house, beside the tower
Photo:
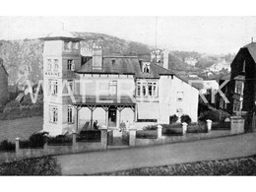
[[[104,56],[101,70],[93,69],[93,59],[90,59],[76,72],[79,74],[133,74],[136,78],[148,79],[160,78],[160,75],[173,75],[169,70],[154,63],[151,64],[150,73],[142,72],[139,58],[136,56]]]

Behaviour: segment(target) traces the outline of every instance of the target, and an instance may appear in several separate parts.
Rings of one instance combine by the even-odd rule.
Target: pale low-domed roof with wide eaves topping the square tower
[[[45,37],[41,37],[42,40],[76,40],[80,41],[83,38],[75,36],[72,32],[60,31],[60,32],[51,32]]]

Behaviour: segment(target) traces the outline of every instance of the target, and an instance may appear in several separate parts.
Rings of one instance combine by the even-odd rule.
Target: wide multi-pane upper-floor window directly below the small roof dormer
[[[137,82],[136,96],[158,96],[157,82]]]

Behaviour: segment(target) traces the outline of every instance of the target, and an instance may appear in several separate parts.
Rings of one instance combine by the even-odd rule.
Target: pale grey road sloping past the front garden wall
[[[256,133],[147,148],[127,148],[55,157],[63,175],[94,174],[199,160],[224,160],[256,154]]]

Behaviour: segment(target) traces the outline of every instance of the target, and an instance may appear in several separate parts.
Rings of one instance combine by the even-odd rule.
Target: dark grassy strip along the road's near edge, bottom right
[[[230,160],[134,168],[98,175],[256,175],[256,155]]]

